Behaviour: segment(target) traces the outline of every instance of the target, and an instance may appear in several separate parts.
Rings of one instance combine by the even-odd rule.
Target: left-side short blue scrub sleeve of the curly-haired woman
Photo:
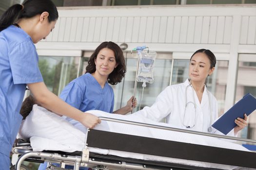
[[[59,97],[64,102],[67,102],[73,107],[76,107],[77,109],[79,109],[83,101],[83,95],[84,95],[84,92],[82,88],[75,82],[71,82],[67,86],[65,86],[65,88],[62,90]]]

